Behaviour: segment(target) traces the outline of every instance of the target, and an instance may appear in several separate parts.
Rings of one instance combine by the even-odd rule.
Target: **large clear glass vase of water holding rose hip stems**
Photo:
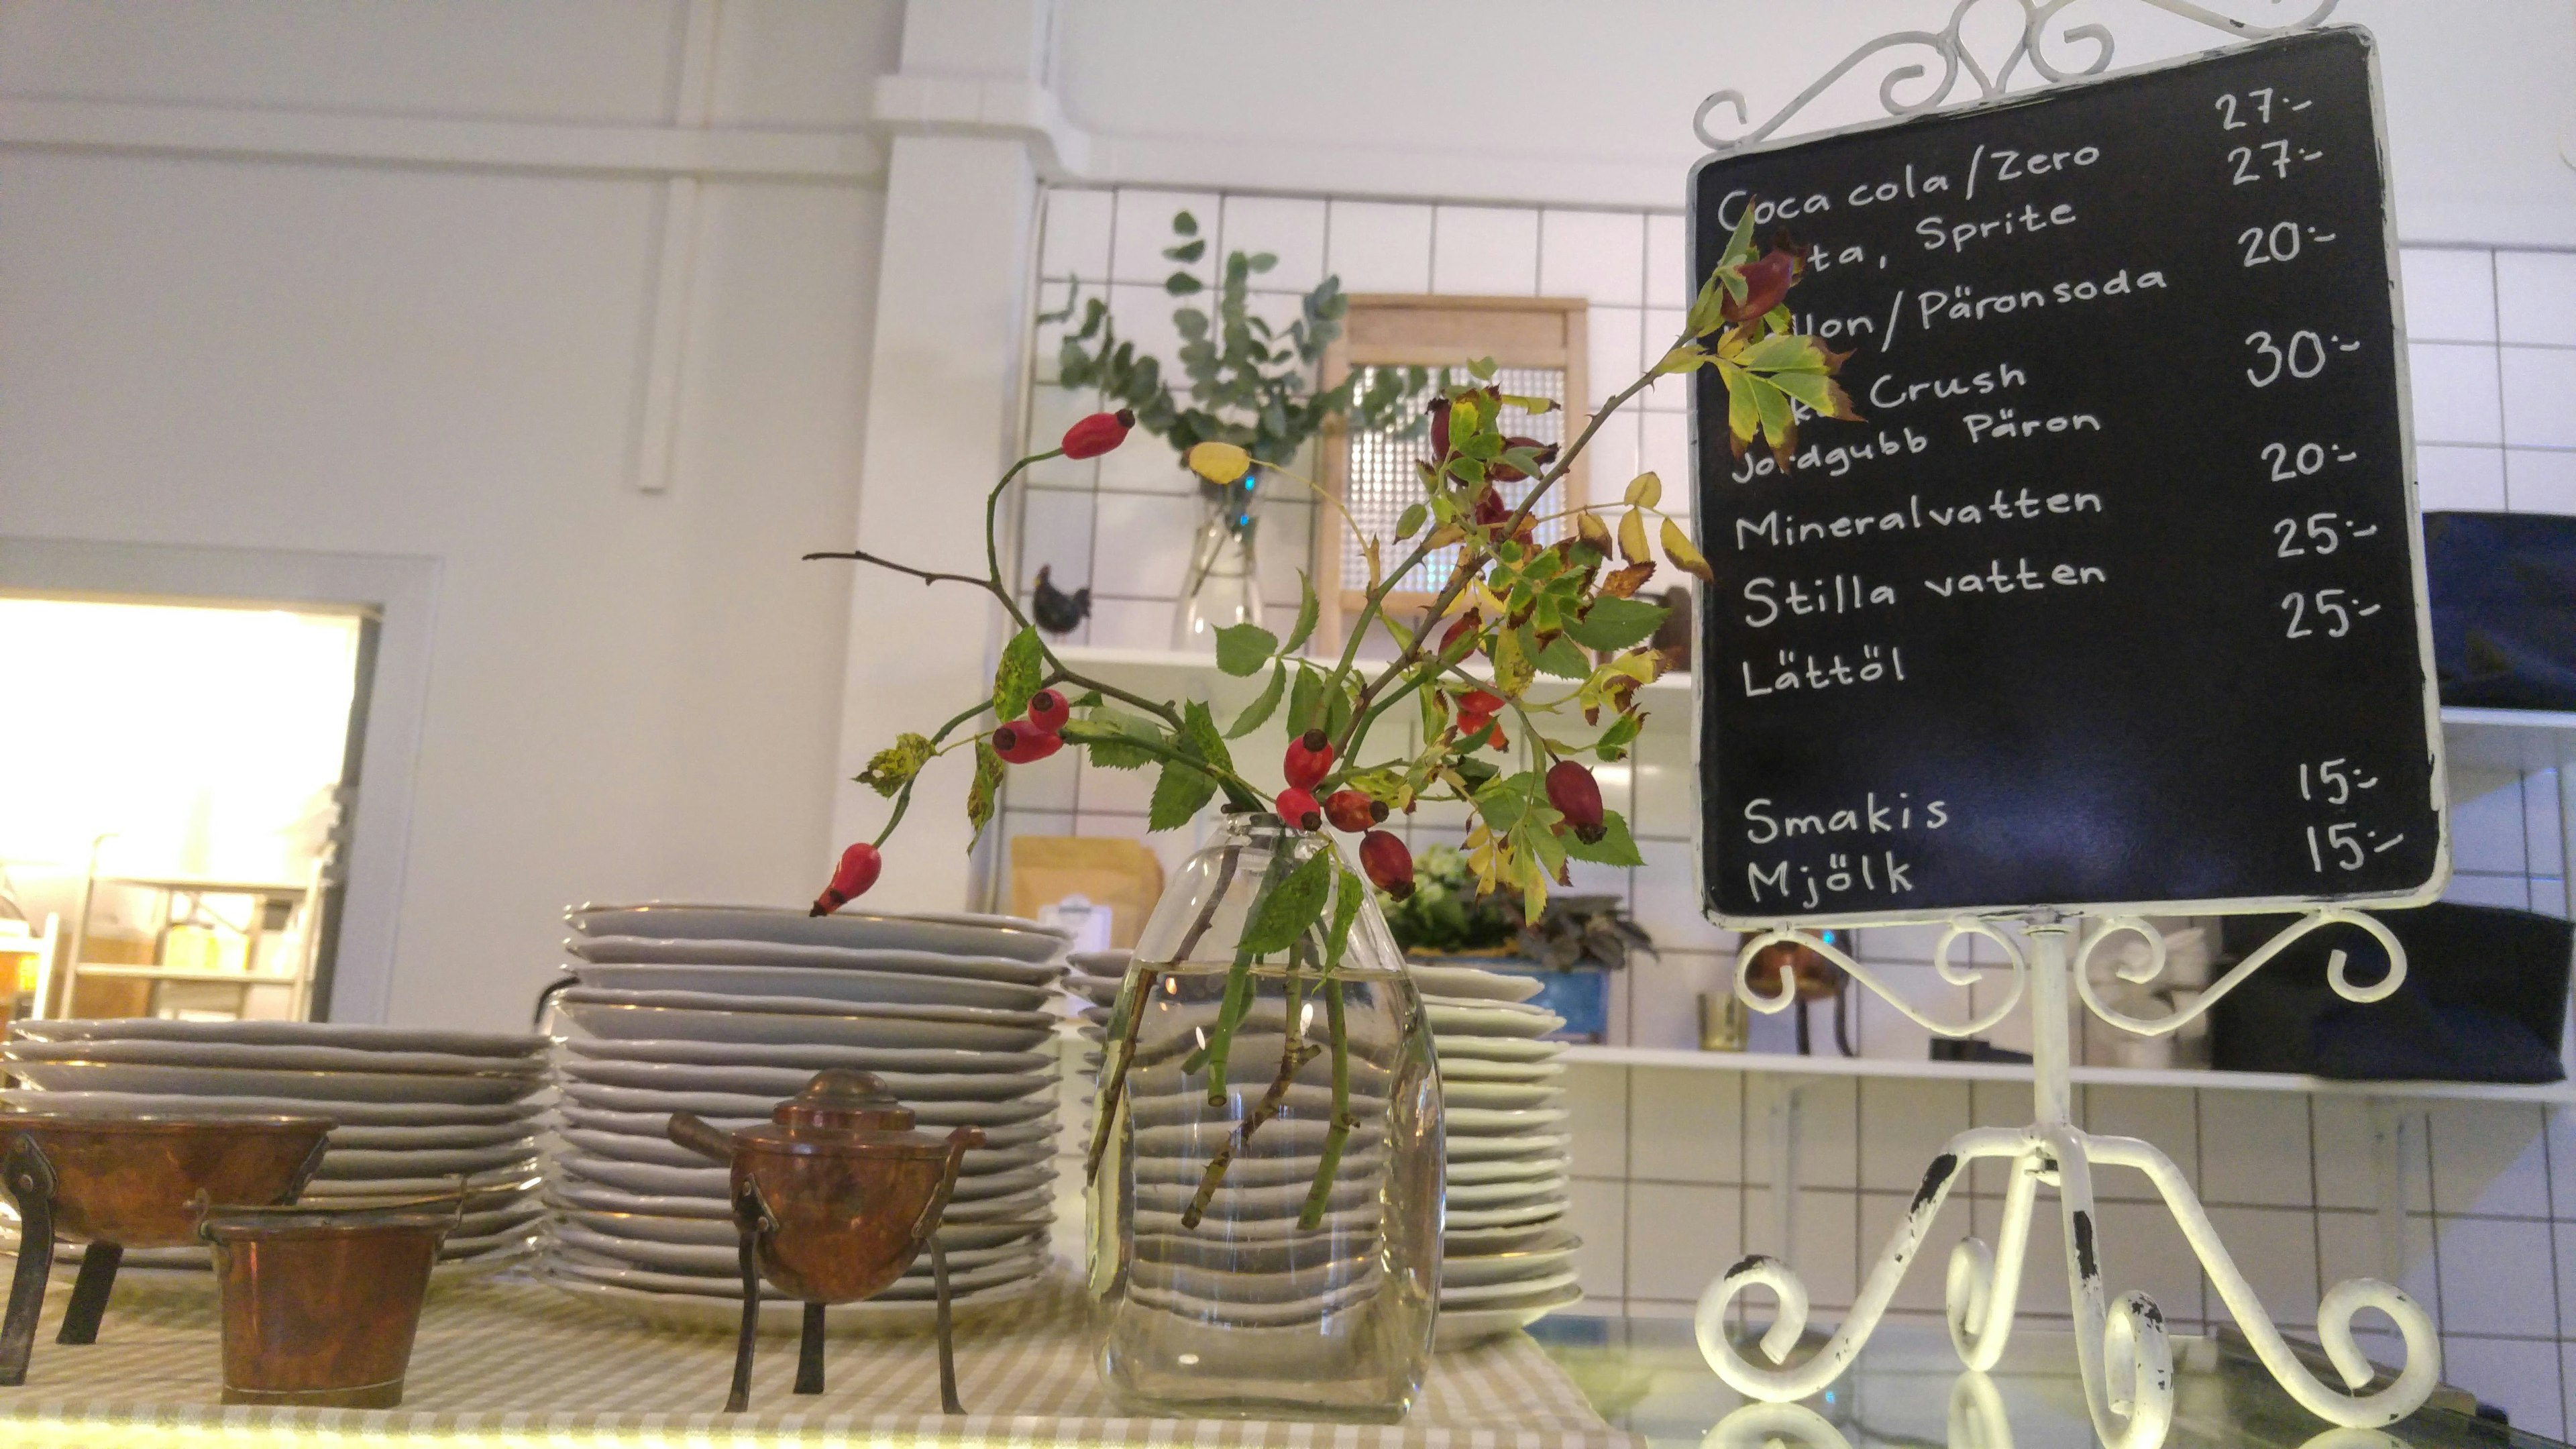
[[[1100,1377],[1133,1408],[1386,1423],[1422,1387],[1443,1181],[1422,998],[1365,887],[1340,964],[1332,902],[1296,946],[1242,949],[1332,848],[1229,815],[1164,890],[1110,1013],[1090,1258]]]

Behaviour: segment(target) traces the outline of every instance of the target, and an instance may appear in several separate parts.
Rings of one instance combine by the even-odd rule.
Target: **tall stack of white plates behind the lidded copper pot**
[[[876,1073],[922,1132],[981,1127],[940,1243],[958,1305],[1028,1292],[1054,1222],[1056,1060],[1046,1011],[1064,936],[1002,915],[804,915],[737,905],[585,905],[577,985],[554,998],[559,1145],[538,1274],[662,1323],[742,1312],[729,1173],[667,1137],[672,1111],[752,1127],[814,1073]],[[930,1307],[927,1253],[863,1325]],[[793,1302],[765,1302],[775,1328]]]

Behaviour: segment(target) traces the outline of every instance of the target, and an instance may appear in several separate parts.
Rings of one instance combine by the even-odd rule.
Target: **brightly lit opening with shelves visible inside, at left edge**
[[[319,1013],[376,632],[361,606],[0,590],[10,1016]]]

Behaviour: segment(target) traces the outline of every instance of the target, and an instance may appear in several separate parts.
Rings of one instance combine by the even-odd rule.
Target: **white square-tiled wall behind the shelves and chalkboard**
[[[1175,209],[1213,235],[1211,258],[1270,250],[1260,278],[1288,302],[1332,271],[1352,291],[1587,297],[1592,384],[1610,392],[1643,369],[1649,348],[1680,330],[1682,219],[1636,211],[1556,211],[1164,191],[1048,193],[1041,258],[1043,307],[1069,286],[1108,294],[1126,335],[1170,356],[1172,302],[1159,258]],[[2403,253],[2411,335],[2414,431],[2427,508],[2576,513],[2576,253],[2411,248]],[[1030,438],[1054,438],[1092,397],[1043,387],[1054,330],[1036,338]],[[1595,474],[1656,469],[1667,500],[1690,477],[1680,387],[1659,387],[1595,441]],[[1613,482],[1615,485],[1615,482]],[[1273,606],[1293,603],[1314,505],[1288,490],[1262,500],[1262,567]],[[1051,562],[1056,583],[1090,583],[1084,642],[1162,647],[1195,503],[1172,454],[1131,443],[1097,464],[1051,464],[1025,492],[1025,572]],[[1023,580],[1025,588],[1025,580]],[[1649,732],[1633,768],[1605,768],[1610,804],[1625,810],[1646,864],[1595,871],[1584,890],[1625,890],[1656,936],[1662,962],[1613,985],[1613,1039],[1687,1047],[1695,995],[1723,987],[1734,938],[1700,918],[1690,879],[1690,755],[1680,732]],[[2550,773],[2463,771],[2455,792],[2455,900],[2566,913],[2558,781]],[[1012,773],[1010,833],[1144,835],[1144,786],[1095,773],[1069,753]],[[1455,838],[1458,822],[1409,825],[1417,846]],[[1157,838],[1177,856],[1188,841]],[[1860,957],[1909,998],[1960,1011],[1960,993],[1929,969],[1929,931],[1862,931]],[[1857,995],[1857,1042],[1870,1057],[1922,1060],[1924,1031]],[[1819,1042],[1829,1039],[1816,1021]],[[1788,1049],[1788,1021],[1757,1021],[1757,1049]],[[2022,1026],[2027,1039],[2027,1026]],[[1999,1029],[2002,1044],[2017,1044]],[[1770,1222],[1765,1093],[1777,1078],[1734,1073],[1577,1067],[1569,1073],[1577,1142],[1574,1217],[1584,1235],[1584,1287],[1605,1307],[1687,1312],[1708,1279],[1749,1248],[1777,1245]],[[2378,1274],[2370,1214],[2370,1119],[2349,1098],[2231,1091],[2092,1088],[2079,1101],[2097,1132],[2164,1147],[2195,1181],[2210,1217],[2275,1320],[2313,1325],[2326,1287]],[[1850,1305],[1924,1163],[1971,1124],[2020,1124],[2027,1093],[1965,1083],[1821,1080],[1801,1104],[1801,1196],[1793,1261],[1819,1320]],[[2421,1116],[2421,1114],[2419,1114]],[[2447,1377],[2501,1403],[2517,1426],[2558,1436],[2576,1390],[2576,1116],[2535,1106],[2463,1104],[2411,1134],[2419,1189],[2403,1287],[2434,1310]],[[2105,1168],[2105,1245],[2112,1289],[2156,1294],[2182,1330],[2226,1323],[2182,1235],[2146,1196],[2143,1178]],[[1953,1196],[1922,1266],[1896,1297],[1901,1312],[1940,1312],[1940,1271],[1963,1232],[1994,1232],[1999,1178]],[[2066,1315],[2053,1204],[2032,1232],[2025,1312]],[[2391,1354],[2393,1356],[2393,1354]]]

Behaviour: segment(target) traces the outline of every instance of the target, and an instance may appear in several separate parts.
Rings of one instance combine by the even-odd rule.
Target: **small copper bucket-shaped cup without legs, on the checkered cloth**
[[[443,1199],[446,1201],[446,1199]],[[453,1212],[209,1207],[224,1403],[394,1408]]]

